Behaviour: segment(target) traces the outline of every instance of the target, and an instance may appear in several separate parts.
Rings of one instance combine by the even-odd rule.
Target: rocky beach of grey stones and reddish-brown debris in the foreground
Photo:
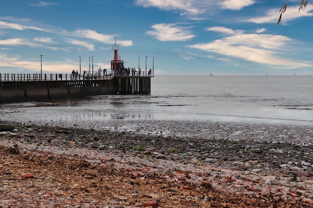
[[[313,131],[293,128],[303,139],[0,121],[0,208],[313,207]]]

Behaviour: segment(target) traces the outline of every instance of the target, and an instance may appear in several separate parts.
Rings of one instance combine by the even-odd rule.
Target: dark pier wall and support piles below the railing
[[[51,101],[93,95],[150,94],[150,77],[108,80],[0,81],[0,103]]]

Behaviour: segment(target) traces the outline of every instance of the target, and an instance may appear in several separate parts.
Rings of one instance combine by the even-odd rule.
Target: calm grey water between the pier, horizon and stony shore
[[[251,134],[258,138],[279,134],[282,138],[300,128],[303,132],[297,132],[297,137],[310,140],[312,88],[313,76],[156,76],[151,78],[151,95],[2,104],[0,119],[178,136],[230,134],[236,138]],[[271,129],[267,134],[265,127]],[[289,133],[281,133],[284,128],[290,129]]]

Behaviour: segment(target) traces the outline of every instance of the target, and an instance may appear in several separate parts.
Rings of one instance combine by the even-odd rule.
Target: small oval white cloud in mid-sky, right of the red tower
[[[187,28],[175,24],[160,23],[151,27],[154,30],[147,31],[146,34],[154,36],[160,41],[185,41],[194,37]]]

